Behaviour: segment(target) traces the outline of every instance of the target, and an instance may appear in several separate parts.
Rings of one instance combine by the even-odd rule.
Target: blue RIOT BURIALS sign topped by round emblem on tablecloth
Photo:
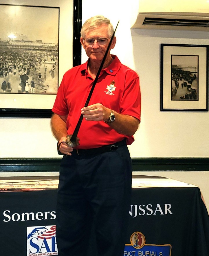
[[[134,232],[130,237],[131,244],[126,244],[124,256],[170,256],[170,244],[145,244],[145,236]]]

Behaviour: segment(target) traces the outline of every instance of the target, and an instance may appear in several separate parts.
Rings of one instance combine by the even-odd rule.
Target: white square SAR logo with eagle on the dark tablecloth
[[[27,256],[58,255],[56,226],[27,227]]]

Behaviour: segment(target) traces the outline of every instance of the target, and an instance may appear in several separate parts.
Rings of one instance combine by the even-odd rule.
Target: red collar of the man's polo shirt
[[[120,60],[118,59],[118,57],[116,55],[113,55],[111,54],[112,58],[113,58],[113,61],[112,63],[105,69],[102,69],[101,72],[106,72],[107,74],[109,75],[116,75],[116,73],[118,72],[118,70],[120,69],[121,67],[121,62]],[[87,60],[85,63],[83,63],[81,65],[81,70],[80,72],[84,75],[87,75],[88,74],[88,71],[87,71],[87,66],[88,66],[88,61]]]

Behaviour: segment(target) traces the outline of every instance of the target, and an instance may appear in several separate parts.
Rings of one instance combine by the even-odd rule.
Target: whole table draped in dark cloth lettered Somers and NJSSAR
[[[0,181],[0,255],[58,255],[57,186],[47,177]],[[197,186],[134,175],[129,216],[124,256],[209,255],[209,216]],[[96,256],[93,246],[87,255]]]

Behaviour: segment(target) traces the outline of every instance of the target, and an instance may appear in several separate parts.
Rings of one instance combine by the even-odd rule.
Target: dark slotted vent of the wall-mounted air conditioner
[[[197,26],[209,27],[209,20],[191,19],[163,19],[163,18],[144,18],[143,25],[165,25],[165,26]]]

